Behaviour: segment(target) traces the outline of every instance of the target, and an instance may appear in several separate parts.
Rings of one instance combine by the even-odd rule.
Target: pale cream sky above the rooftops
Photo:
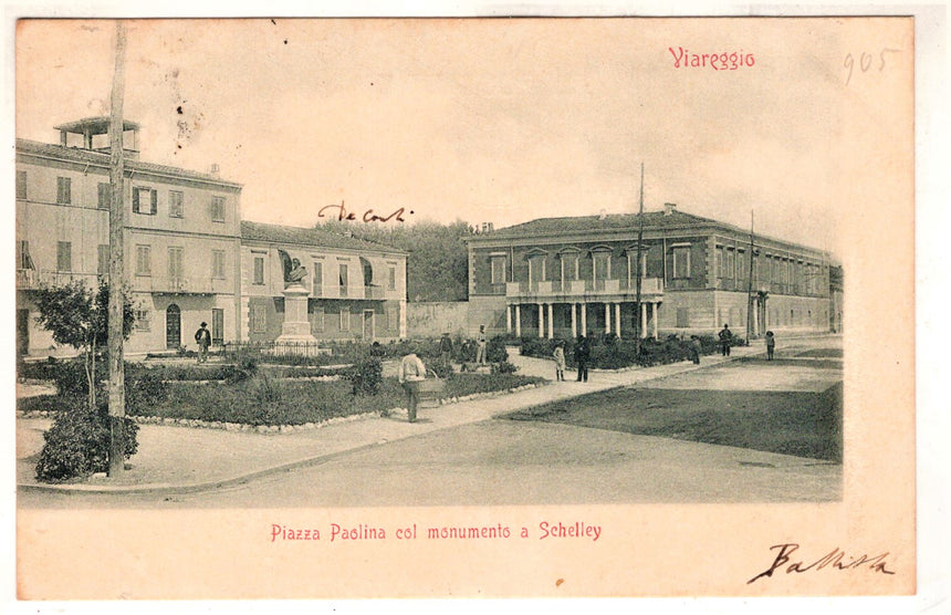
[[[243,184],[250,220],[311,226],[341,200],[497,228],[629,212],[642,161],[648,210],[746,228],[754,209],[757,232],[836,252],[858,206],[840,22],[137,21],[125,117],[142,159]],[[20,22],[18,137],[108,113],[114,33]],[[675,69],[669,46],[755,64]]]

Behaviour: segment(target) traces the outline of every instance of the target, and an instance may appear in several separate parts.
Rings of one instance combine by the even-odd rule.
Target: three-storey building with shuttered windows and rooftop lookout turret
[[[21,352],[53,351],[32,291],[108,275],[107,117],[56,126],[59,145],[17,139],[17,333]],[[178,348],[202,321],[215,344],[239,335],[241,185],[145,163],[125,122],[125,285],[136,309],[132,353]]]

